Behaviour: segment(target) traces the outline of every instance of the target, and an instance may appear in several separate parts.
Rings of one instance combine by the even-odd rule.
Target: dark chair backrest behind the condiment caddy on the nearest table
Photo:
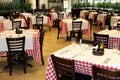
[[[102,42],[104,48],[108,48],[109,35],[93,33],[94,42]]]

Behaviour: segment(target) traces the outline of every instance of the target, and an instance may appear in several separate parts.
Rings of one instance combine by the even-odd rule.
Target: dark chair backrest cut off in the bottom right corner
[[[93,65],[93,80],[120,80],[120,71],[108,70]]]

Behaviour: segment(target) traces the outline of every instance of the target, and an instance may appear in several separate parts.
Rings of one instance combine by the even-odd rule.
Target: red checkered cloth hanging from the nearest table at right
[[[92,76],[92,66],[96,65],[104,69],[109,70],[120,70],[120,68],[104,65],[104,64],[95,64],[93,62],[74,60],[75,61],[75,71],[78,73],[83,73],[86,75]],[[46,69],[46,80],[57,80],[56,74],[53,66],[51,57],[48,58],[48,66]]]

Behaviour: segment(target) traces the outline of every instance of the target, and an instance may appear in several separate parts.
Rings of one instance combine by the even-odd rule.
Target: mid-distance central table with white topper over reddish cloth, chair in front
[[[61,29],[62,29],[62,35],[66,35],[67,32],[72,31],[72,18],[67,18],[67,19],[62,19],[59,23]],[[78,18],[74,21],[82,21],[82,26],[81,26],[81,30],[83,31],[83,33],[85,33],[88,38],[91,39],[91,29],[90,29],[90,23],[82,18]]]

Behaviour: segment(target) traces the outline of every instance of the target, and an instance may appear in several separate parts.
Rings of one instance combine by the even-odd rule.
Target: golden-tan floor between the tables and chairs
[[[48,28],[44,28],[46,30],[44,43],[43,43],[43,56],[45,60],[45,65],[37,63],[36,61],[30,61],[33,65],[33,68],[27,67],[27,74],[24,74],[22,66],[19,65],[13,68],[12,76],[9,76],[9,70],[4,69],[6,64],[6,57],[0,58],[0,67],[2,71],[0,72],[0,80],[45,80],[46,76],[46,67],[47,60],[51,53],[71,44],[70,41],[66,41],[65,37],[57,40],[57,28],[52,28],[51,31],[48,31]],[[92,33],[100,31],[97,26],[92,26]],[[84,39],[88,39],[87,36],[83,36]]]

